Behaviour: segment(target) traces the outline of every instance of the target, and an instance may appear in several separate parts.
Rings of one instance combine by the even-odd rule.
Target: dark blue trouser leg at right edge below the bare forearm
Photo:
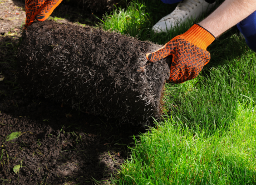
[[[256,11],[237,24],[250,49],[256,52]]]

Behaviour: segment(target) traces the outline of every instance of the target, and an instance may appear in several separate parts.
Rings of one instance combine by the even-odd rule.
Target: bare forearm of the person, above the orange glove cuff
[[[256,0],[226,0],[199,23],[215,37],[256,11]]]

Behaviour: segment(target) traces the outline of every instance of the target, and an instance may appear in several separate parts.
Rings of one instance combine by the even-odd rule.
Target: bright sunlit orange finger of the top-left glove
[[[51,16],[53,10],[62,2],[62,0],[50,0],[41,9],[40,13],[37,14],[36,19],[38,21],[44,21]]]

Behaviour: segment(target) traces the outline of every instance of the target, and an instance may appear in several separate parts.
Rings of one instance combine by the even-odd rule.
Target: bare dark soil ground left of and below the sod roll
[[[145,129],[25,96],[14,70],[19,27],[25,19],[23,4],[0,3],[0,183],[109,184],[111,173],[115,176],[127,157],[132,137]],[[70,8],[58,9],[65,15]],[[76,15],[61,21],[72,23]],[[85,15],[78,16],[80,23],[95,20]],[[23,134],[6,141],[7,135],[18,131]],[[20,168],[14,173],[16,165]]]

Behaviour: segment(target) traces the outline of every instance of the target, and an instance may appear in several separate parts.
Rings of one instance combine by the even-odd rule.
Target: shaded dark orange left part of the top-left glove
[[[46,1],[41,0],[26,0],[25,3],[25,11],[26,11],[26,23],[25,23],[25,29],[31,25],[36,15],[41,11],[43,6],[45,6]]]

